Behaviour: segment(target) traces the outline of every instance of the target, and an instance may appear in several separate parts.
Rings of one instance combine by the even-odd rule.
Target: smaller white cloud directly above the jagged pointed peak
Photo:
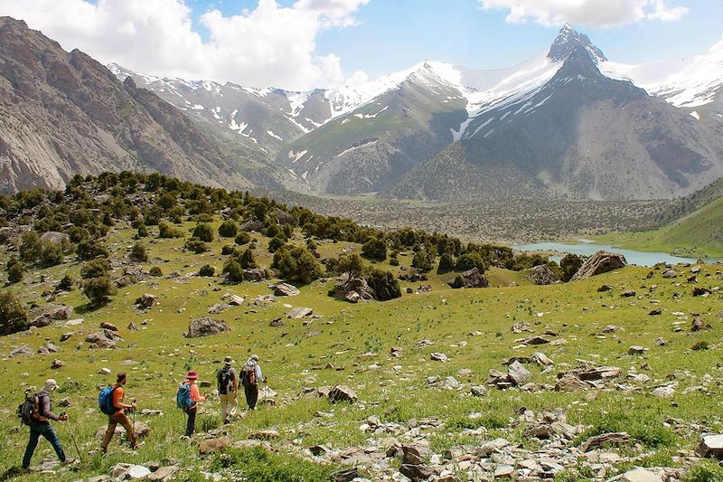
[[[665,0],[479,0],[485,10],[509,10],[507,22],[533,21],[546,26],[565,23],[590,27],[633,24],[642,20],[678,20],[688,14],[684,6],[670,7]]]

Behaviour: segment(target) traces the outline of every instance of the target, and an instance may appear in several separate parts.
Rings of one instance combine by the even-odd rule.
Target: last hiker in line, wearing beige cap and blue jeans
[[[46,440],[51,442],[52,448],[55,449],[55,454],[61,460],[61,464],[70,464],[73,462],[72,459],[65,457],[65,452],[62,451],[61,440],[58,439],[58,435],[55,430],[52,429],[50,421],[67,421],[68,415],[62,412],[60,415],[56,415],[51,411],[51,393],[58,388],[58,383],[52,378],[45,381],[40,392],[33,395],[33,411],[29,414],[29,420],[26,422],[30,426],[30,439],[28,440],[28,446],[25,449],[25,455],[23,457],[23,472],[30,471],[30,459],[33,458],[33,452],[38,446],[38,439],[44,437]],[[25,421],[25,419],[23,419]]]

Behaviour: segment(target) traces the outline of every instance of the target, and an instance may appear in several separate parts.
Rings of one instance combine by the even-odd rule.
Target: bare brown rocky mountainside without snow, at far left
[[[0,18],[0,190],[61,188],[72,175],[133,169],[248,188],[248,151],[227,159],[209,137],[154,94],[121,83],[99,62],[20,21]]]

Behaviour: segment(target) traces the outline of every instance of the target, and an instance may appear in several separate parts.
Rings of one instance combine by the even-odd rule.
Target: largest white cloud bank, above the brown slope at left
[[[246,86],[305,90],[343,81],[340,59],[319,55],[325,28],[354,24],[369,0],[259,0],[251,11],[212,10],[193,30],[190,0],[0,0],[0,14],[78,48],[102,62],[168,77],[232,81]]]

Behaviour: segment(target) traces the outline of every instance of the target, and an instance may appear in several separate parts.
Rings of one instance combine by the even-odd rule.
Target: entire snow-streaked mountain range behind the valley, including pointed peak
[[[510,176],[515,165],[556,165],[568,159],[564,169],[531,169],[529,177],[514,181],[535,186],[534,194],[528,190],[525,195],[671,197],[721,174],[718,140],[709,141],[709,131],[715,137],[714,129],[723,130],[723,41],[699,57],[627,65],[608,60],[587,35],[566,24],[548,51],[511,68],[471,70],[421,61],[362,85],[308,92],[160,79],[109,67],[207,128],[258,146],[320,193],[386,190],[385,195],[444,197],[455,189],[419,187],[424,177],[419,169],[440,158],[449,161],[452,152],[454,163],[460,158],[475,165],[502,163],[500,173],[510,179],[517,179]],[[591,115],[593,106],[613,116],[610,106],[622,110],[631,102],[637,104],[626,115],[639,110],[643,116],[647,109],[660,118],[629,118],[632,127],[624,131]],[[582,119],[597,127],[581,126]],[[711,126],[711,119],[718,122]],[[615,135],[600,131],[603,127]],[[512,135],[515,129],[522,131]],[[638,137],[628,138],[631,132]],[[521,146],[522,140],[529,145]],[[674,151],[676,158],[663,162],[661,149]],[[613,158],[623,165],[610,164]],[[636,168],[640,178],[633,175],[621,183],[606,172],[627,172],[625,163],[643,163]],[[473,178],[468,176],[465,184]],[[440,180],[430,181],[437,185]],[[488,190],[502,185],[490,184]]]

